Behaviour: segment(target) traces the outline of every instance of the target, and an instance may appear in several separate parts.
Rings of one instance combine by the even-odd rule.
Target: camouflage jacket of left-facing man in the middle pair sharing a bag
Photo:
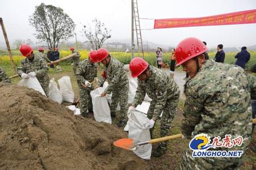
[[[127,88],[129,84],[125,70],[123,69],[123,63],[115,58],[110,59],[110,63],[105,68],[108,80],[108,86],[104,91],[106,94],[111,94],[114,90],[120,90],[120,88]],[[101,78],[99,86],[102,86],[106,79]],[[129,89],[128,89],[129,90]]]

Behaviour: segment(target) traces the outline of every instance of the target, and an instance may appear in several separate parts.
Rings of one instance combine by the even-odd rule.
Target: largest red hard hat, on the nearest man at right
[[[176,66],[188,61],[191,58],[199,56],[207,51],[207,47],[204,43],[194,37],[189,37],[187,39],[179,42],[175,49],[175,56],[177,60]]]

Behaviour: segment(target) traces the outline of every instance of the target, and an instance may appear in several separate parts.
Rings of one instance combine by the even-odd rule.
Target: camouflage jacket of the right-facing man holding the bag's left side
[[[79,62],[75,75],[77,82],[85,83],[85,80],[90,83],[93,82],[97,77],[97,63],[91,64],[89,59]]]

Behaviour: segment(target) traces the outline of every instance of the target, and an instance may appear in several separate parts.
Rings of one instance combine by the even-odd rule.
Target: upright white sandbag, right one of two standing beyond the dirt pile
[[[62,93],[63,101],[73,103],[75,95],[72,88],[72,84],[70,82],[70,77],[62,76],[62,78],[58,80],[58,84],[60,85],[60,91]]]

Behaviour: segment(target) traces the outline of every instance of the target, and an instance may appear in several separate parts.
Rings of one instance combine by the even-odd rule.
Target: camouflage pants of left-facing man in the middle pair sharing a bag
[[[110,112],[116,113],[116,108],[119,103],[120,105],[120,120],[125,120],[126,114],[128,111],[128,92],[129,84],[123,88],[118,88],[115,91],[112,91],[112,103],[110,105]]]

